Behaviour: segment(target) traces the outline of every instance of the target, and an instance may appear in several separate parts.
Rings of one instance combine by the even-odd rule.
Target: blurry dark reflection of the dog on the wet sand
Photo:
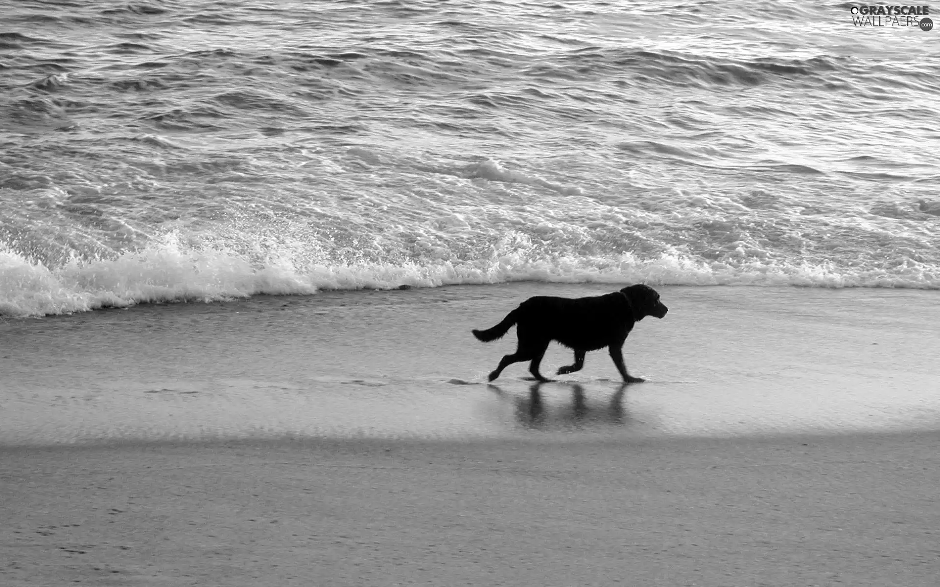
[[[589,401],[585,388],[579,383],[569,383],[572,389],[572,403],[569,406],[558,406],[552,409],[546,406],[542,397],[541,387],[545,383],[538,381],[529,386],[528,396],[515,395],[504,392],[492,383],[488,387],[493,393],[504,398],[510,398],[515,406],[516,420],[528,428],[550,427],[586,427],[588,425],[613,424],[625,425],[629,420],[623,408],[623,397],[627,392],[628,383],[620,383],[617,391],[605,403]]]

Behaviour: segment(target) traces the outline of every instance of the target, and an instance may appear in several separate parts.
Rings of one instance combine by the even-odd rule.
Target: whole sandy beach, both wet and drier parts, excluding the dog
[[[4,323],[0,585],[936,585],[932,292],[662,288],[650,382],[483,383],[579,289]]]

